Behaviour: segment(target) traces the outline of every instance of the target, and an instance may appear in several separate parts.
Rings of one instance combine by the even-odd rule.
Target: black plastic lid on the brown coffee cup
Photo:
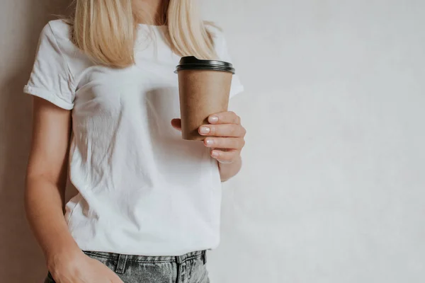
[[[201,60],[194,56],[182,57],[176,71],[183,70],[212,70],[212,71],[228,71],[234,74],[233,65],[228,62],[217,60]]]

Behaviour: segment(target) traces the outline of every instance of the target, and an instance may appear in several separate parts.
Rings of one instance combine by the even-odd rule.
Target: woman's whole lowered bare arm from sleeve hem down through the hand
[[[123,283],[114,272],[87,257],[64,219],[71,112],[34,98],[33,142],[26,178],[26,214],[57,283]]]

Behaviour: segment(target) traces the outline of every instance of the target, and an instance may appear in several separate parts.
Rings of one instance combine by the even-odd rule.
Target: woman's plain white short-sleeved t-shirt
[[[42,30],[24,91],[72,110],[69,177],[79,194],[65,218],[82,250],[182,255],[219,243],[217,161],[171,127],[180,117],[180,57],[165,28],[138,25],[135,65],[126,69],[93,64],[62,20]],[[231,62],[225,38],[212,32],[218,56]],[[242,90],[234,76],[231,96]]]

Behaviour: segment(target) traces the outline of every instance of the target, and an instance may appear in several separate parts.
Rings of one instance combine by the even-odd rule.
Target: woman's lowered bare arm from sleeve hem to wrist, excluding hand
[[[34,98],[33,141],[26,178],[26,214],[31,229],[45,253],[47,264],[52,255],[64,249],[79,250],[65,223],[64,190],[67,182],[69,110]]]

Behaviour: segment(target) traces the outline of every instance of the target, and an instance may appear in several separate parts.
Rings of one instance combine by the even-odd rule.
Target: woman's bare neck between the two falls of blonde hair
[[[133,0],[137,23],[165,25],[168,0]]]

